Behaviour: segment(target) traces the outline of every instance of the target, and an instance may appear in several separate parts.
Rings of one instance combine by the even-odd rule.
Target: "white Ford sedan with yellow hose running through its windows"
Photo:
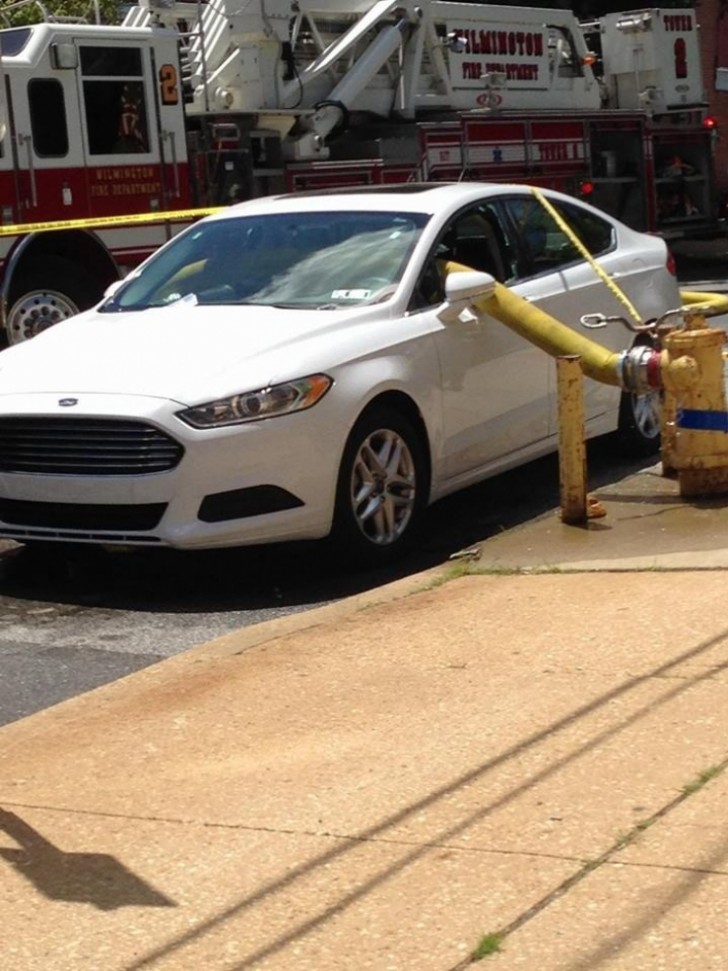
[[[0,355],[0,535],[177,548],[331,536],[360,561],[428,503],[557,446],[548,354],[446,292],[470,267],[569,326],[678,307],[665,243],[527,186],[259,199]],[[452,275],[452,274],[451,274]],[[450,296],[448,297],[448,294]],[[627,348],[611,326],[600,343]],[[586,381],[587,434],[655,449],[659,402]]]

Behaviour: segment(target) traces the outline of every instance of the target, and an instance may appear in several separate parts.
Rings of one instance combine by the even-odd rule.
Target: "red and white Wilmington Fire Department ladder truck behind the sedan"
[[[692,9],[141,0],[0,31],[0,323],[32,337],[178,228],[268,193],[527,181],[716,230]]]

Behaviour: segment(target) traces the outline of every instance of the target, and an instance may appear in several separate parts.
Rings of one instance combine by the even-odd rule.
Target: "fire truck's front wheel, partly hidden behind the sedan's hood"
[[[42,272],[20,276],[5,322],[8,344],[20,344],[61,320],[91,307],[99,288],[67,260],[45,260]]]

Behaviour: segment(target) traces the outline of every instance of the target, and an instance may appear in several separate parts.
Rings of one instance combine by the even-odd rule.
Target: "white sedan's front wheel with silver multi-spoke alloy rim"
[[[411,548],[429,489],[422,437],[391,408],[365,412],[344,449],[331,533],[350,566],[384,566]]]

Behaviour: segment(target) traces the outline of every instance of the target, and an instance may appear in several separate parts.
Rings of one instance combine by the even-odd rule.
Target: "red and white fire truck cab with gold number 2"
[[[190,196],[181,96],[152,83],[177,78],[176,33],[43,23],[1,31],[0,50],[1,224],[31,230],[0,236],[17,341],[98,300],[168,238],[128,216]],[[78,225],[99,218],[108,227]]]

